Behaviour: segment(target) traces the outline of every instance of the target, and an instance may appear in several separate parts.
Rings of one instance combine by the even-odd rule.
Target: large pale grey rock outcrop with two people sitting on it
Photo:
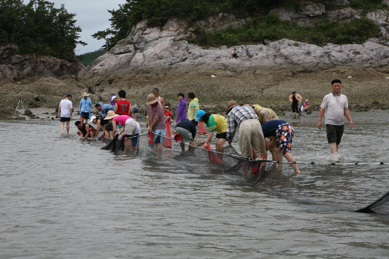
[[[312,71],[341,65],[387,65],[389,61],[389,47],[375,42],[320,47],[288,39],[246,45],[243,60],[230,59],[233,48],[239,46],[203,49],[183,40],[190,32],[185,21],[177,19],[169,19],[163,28],[151,28],[146,20],[141,21],[128,37],[82,70],[78,78],[99,85],[105,77],[131,73],[235,73],[253,68]]]

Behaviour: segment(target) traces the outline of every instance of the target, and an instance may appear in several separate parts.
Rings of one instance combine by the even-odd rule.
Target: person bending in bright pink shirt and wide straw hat
[[[109,110],[105,120],[112,119],[112,136],[116,134],[116,125],[123,126],[120,129],[121,137],[124,138],[124,152],[132,149],[132,138],[137,137],[140,133],[140,126],[137,121],[127,115],[118,115],[114,111]]]

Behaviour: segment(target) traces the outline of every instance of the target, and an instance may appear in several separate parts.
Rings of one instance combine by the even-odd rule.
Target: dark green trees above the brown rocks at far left
[[[75,26],[75,14],[64,5],[54,8],[54,3],[44,0],[0,1],[0,45],[17,44],[19,53],[37,53],[66,58],[74,53],[81,28]]]

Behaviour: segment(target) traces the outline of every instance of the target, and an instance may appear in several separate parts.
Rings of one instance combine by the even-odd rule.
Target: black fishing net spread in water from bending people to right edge
[[[175,156],[175,161],[189,172],[220,173],[307,205],[389,215],[388,165],[298,163],[301,173],[296,175],[289,163],[248,161],[233,147],[225,147],[226,154],[198,147],[203,143]]]

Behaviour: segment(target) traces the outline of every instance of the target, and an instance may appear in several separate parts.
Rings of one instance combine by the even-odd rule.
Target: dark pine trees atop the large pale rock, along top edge
[[[279,6],[286,0],[127,0],[117,10],[109,10],[112,15],[111,28],[92,36],[104,39],[103,47],[113,47],[126,37],[133,25],[148,19],[151,26],[163,26],[170,17],[188,19],[189,24],[220,12],[230,12],[237,17],[263,14]]]

